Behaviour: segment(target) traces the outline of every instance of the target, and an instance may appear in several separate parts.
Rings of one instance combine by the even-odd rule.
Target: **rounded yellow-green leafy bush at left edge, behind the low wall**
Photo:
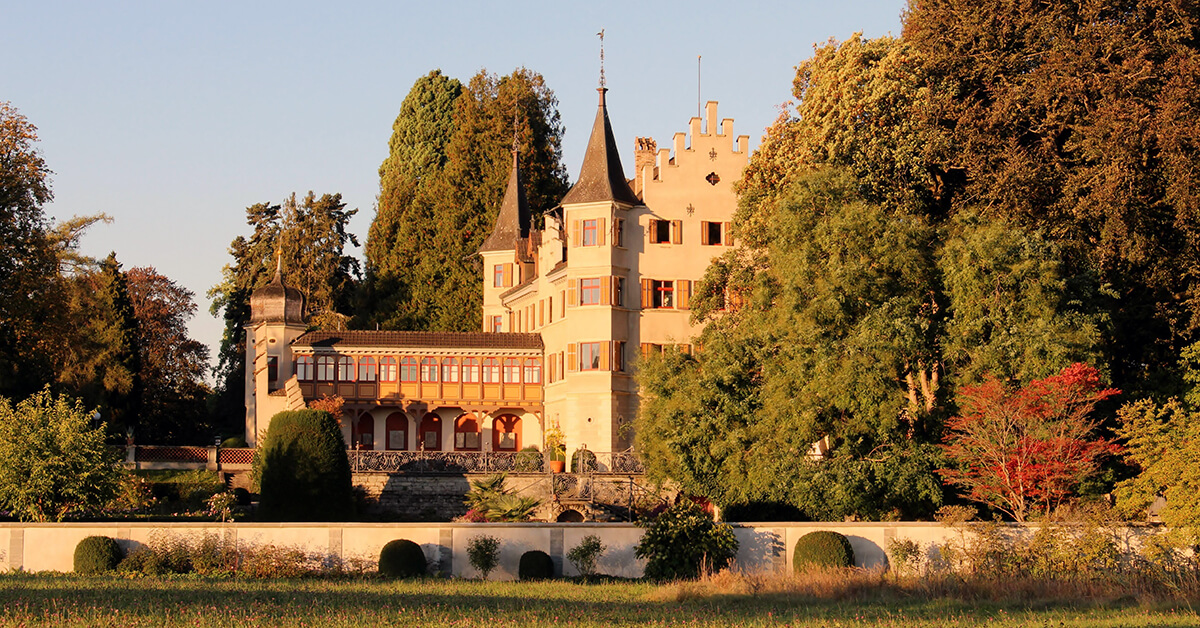
[[[0,508],[22,521],[62,521],[107,504],[121,456],[91,419],[80,400],[48,387],[16,406],[0,397]]]

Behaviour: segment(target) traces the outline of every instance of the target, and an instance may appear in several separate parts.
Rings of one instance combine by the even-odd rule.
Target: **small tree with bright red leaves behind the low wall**
[[[938,473],[1016,521],[1045,515],[1121,450],[1094,437],[1091,419],[1096,403],[1120,393],[1103,388],[1100,373],[1086,364],[1021,388],[995,378],[965,387],[964,414],[950,419],[942,445],[954,465]]]

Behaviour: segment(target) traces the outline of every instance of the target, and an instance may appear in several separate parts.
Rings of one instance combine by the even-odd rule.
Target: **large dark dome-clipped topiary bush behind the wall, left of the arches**
[[[354,513],[346,441],[332,414],[286,411],[271,417],[254,451],[258,514],[265,521],[344,521]]]

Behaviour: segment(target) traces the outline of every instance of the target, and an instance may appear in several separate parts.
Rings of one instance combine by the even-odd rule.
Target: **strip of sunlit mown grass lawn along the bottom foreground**
[[[647,582],[0,575],[0,626],[1200,626],[1187,606],[823,599]]]

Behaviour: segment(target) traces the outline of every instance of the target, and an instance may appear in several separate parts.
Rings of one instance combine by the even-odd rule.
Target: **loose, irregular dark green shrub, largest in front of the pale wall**
[[[696,578],[701,569],[720,570],[738,554],[733,528],[714,522],[686,500],[642,526],[646,533],[634,555],[647,561],[646,578],[652,580]]]

